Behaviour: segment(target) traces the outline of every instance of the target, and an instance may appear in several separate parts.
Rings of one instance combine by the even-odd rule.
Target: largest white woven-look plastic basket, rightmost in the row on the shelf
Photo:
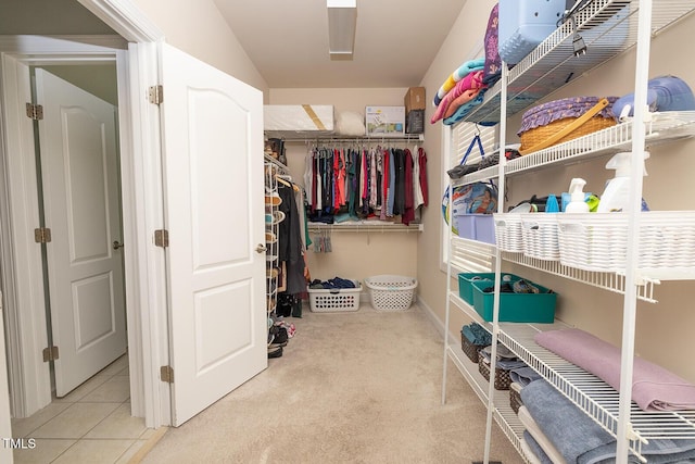
[[[563,213],[557,221],[561,264],[584,271],[624,271],[628,214]],[[695,269],[695,214],[686,211],[642,213],[637,267]]]

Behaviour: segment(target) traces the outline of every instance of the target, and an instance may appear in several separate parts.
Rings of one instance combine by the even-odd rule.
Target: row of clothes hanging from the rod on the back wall
[[[427,154],[422,148],[313,148],[304,185],[311,222],[375,218],[408,225],[427,206]]]

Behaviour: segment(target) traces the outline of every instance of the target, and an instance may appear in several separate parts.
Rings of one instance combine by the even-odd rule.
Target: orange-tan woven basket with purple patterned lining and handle
[[[608,105],[601,110],[596,109],[597,113],[594,116],[570,130],[564,137],[544,145],[560,130],[566,130],[570,125],[580,122],[580,118],[592,111],[601,100],[596,97],[576,97],[552,101],[530,109],[523,113],[521,129],[518,133],[521,139],[519,152],[527,154],[615,126],[616,120],[612,115],[611,106],[616,98],[608,97],[606,99]]]

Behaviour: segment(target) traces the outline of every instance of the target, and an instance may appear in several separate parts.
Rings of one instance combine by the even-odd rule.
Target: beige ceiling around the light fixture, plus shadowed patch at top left
[[[357,0],[352,61],[328,54],[326,0],[213,0],[269,88],[410,87],[466,0]],[[76,0],[2,0],[0,34],[113,34]]]

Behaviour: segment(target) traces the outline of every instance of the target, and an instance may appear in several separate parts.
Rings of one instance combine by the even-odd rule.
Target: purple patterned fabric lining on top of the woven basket
[[[521,128],[517,135],[520,136],[527,130],[545,126],[554,121],[566,117],[579,117],[591,110],[601,99],[599,97],[573,97],[533,106],[521,116]],[[617,97],[606,97],[606,99],[609,103],[608,106],[604,108],[596,116],[612,118],[615,117],[612,114],[612,103],[615,103]]]

